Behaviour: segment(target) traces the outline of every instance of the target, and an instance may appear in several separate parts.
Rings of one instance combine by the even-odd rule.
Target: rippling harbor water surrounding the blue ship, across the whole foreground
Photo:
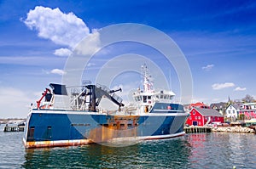
[[[25,149],[23,132],[0,131],[0,168],[255,168],[256,135],[210,132],[127,147]]]

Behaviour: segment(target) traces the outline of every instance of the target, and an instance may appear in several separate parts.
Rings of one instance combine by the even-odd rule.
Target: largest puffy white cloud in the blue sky
[[[83,20],[73,13],[64,14],[59,8],[37,6],[26,14],[23,21],[31,30],[38,31],[38,37],[71,48],[90,35],[90,29]]]

